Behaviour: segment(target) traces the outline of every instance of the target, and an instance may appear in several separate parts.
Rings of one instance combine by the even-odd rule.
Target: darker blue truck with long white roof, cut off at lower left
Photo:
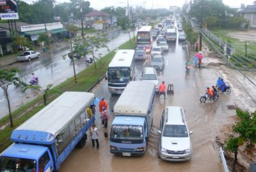
[[[59,171],[75,146],[83,148],[95,121],[86,108],[93,93],[65,92],[13,130],[13,144],[0,154],[0,171]]]

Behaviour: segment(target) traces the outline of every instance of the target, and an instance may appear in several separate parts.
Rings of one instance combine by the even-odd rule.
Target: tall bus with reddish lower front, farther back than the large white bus
[[[152,26],[143,26],[138,30],[137,47],[150,50],[152,47]]]

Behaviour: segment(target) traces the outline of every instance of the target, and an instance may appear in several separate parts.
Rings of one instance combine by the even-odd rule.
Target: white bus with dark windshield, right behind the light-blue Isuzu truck
[[[108,66],[108,89],[121,94],[127,83],[134,79],[134,50],[118,50]]]

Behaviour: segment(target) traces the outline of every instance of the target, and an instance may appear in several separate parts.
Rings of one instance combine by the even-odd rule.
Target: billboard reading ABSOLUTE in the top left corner
[[[0,0],[1,20],[19,19],[16,0]]]

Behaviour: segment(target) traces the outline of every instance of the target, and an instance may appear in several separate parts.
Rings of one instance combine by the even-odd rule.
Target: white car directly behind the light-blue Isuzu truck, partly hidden
[[[159,92],[159,77],[157,75],[156,68],[145,67],[140,80],[154,82],[155,87],[156,87],[156,92],[157,93]]]

